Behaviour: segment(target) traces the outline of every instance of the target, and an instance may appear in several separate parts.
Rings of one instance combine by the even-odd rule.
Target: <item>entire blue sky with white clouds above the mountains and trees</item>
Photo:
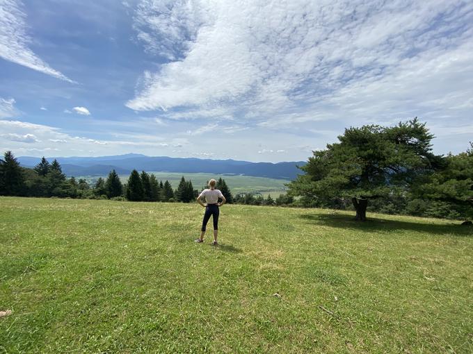
[[[473,140],[472,1],[0,0],[0,151],[306,160],[419,117]]]

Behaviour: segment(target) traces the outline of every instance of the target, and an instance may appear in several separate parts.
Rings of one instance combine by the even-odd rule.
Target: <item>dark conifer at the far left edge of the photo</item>
[[[26,194],[22,167],[11,151],[0,159],[0,195],[21,196]]]

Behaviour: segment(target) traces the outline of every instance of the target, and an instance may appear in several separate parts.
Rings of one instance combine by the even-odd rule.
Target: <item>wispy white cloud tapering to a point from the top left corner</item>
[[[30,48],[31,37],[26,33],[26,14],[16,0],[0,2],[0,57],[24,67],[74,83],[60,71],[42,61]]]

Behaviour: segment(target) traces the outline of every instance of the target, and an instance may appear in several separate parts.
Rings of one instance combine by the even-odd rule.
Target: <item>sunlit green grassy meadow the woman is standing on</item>
[[[471,227],[225,205],[213,247],[196,204],[0,210],[0,352],[473,351]]]

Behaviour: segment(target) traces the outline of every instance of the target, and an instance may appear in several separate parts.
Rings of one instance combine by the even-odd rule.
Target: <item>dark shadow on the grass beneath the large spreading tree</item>
[[[360,230],[365,233],[385,233],[396,232],[396,230],[418,231],[422,233],[431,233],[433,235],[455,235],[455,236],[473,236],[472,226],[462,226],[454,224],[431,224],[426,222],[409,222],[399,220],[381,219],[369,217],[367,221],[355,221],[355,217],[346,214],[302,214],[301,219],[310,221],[311,224],[330,226],[332,228],[345,228],[351,230]]]

